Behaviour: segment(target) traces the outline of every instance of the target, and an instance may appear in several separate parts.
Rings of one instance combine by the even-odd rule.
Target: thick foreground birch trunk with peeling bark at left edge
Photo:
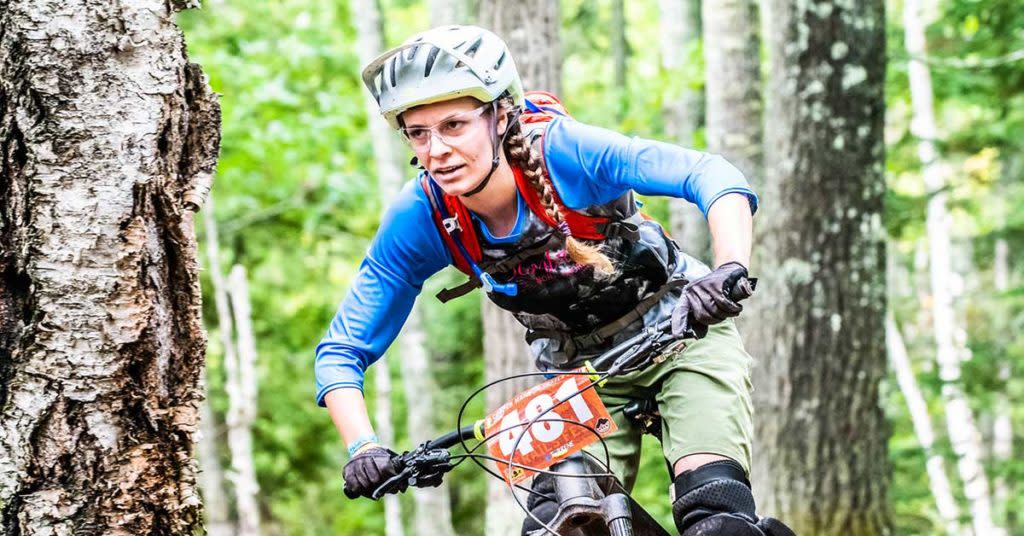
[[[169,10],[0,9],[0,526],[190,535],[206,338],[193,214],[219,107]]]

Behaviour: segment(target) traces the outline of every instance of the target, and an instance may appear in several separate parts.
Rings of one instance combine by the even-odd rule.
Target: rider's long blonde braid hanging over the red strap
[[[554,187],[544,176],[544,163],[541,162],[541,155],[526,139],[522,125],[518,121],[509,125],[509,136],[505,141],[505,150],[509,156],[509,162],[522,170],[526,180],[541,198],[544,211],[558,224],[559,231],[565,236],[565,251],[568,252],[569,258],[580,264],[594,266],[599,276],[614,275],[615,267],[611,263],[611,259],[601,252],[600,246],[587,244],[568,232],[568,224],[564,223],[565,218],[561,207],[555,203]]]

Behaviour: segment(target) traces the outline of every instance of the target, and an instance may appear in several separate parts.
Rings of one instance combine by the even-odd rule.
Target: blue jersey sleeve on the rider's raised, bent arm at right
[[[544,158],[562,202],[572,209],[608,203],[629,190],[685,199],[705,217],[726,194],[745,195],[752,212],[758,206],[743,174],[718,155],[629,137],[571,119],[550,123]]]

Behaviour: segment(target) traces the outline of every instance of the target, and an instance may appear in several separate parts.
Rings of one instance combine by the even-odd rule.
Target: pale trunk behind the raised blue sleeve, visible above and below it
[[[694,147],[693,134],[699,127],[703,94],[690,87],[683,67],[700,43],[700,0],[658,0],[662,17],[658,41],[662,69],[673,83],[665,99],[665,127],[669,137],[683,147]],[[700,209],[682,199],[669,201],[672,236],[687,253],[710,262],[711,240],[708,221]]]

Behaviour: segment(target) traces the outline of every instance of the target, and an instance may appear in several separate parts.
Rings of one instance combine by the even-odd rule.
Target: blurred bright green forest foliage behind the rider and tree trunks
[[[561,1],[560,96],[581,121],[670,139],[667,104],[684,91],[703,90],[702,44],[699,39],[681,44],[678,67],[667,68],[657,45],[665,14],[658,2],[633,1],[620,11],[621,6],[621,1],[611,0]],[[926,207],[935,192],[926,187],[919,139],[910,133],[903,7],[899,0],[889,1],[886,20],[888,189],[884,222],[889,242],[889,308],[938,430],[934,445],[922,447],[895,372],[883,382],[881,402],[891,426],[889,501],[895,534],[924,535],[941,534],[943,527],[926,470],[931,456],[938,455],[950,467],[952,492],[965,526],[970,525],[971,500],[951,469],[958,456],[941,424],[942,380],[934,361],[926,229]],[[385,0],[379,8],[387,46],[428,28],[433,14],[431,5],[422,1]],[[466,22],[476,20],[470,15],[476,12],[475,6],[460,9]],[[384,208],[375,148],[368,135],[368,121],[381,120],[367,113],[352,13],[346,2],[208,0],[202,10],[178,15],[189,56],[203,66],[211,86],[221,95],[223,110],[213,189],[216,203],[201,212],[201,218],[214,221],[197,225],[206,263],[207,384],[214,417],[209,421],[214,427],[208,428],[204,441],[212,445],[208,452],[215,453],[201,461],[208,477],[221,475],[220,467],[228,475],[232,470],[245,473],[244,468],[231,469],[238,462],[227,442],[227,422],[238,424],[240,417],[230,415],[230,389],[225,390],[226,373],[231,370],[225,370],[224,341],[231,337],[221,337],[225,323],[220,319],[227,310],[218,312],[215,306],[217,285],[206,256],[213,247],[225,274],[227,266],[236,264],[248,272],[258,384],[251,406],[251,466],[258,493],[247,493],[256,498],[262,532],[268,534],[385,532],[384,502],[343,497],[345,448],[327,412],[313,401],[313,348]],[[1013,403],[1024,391],[1019,374],[1024,366],[1020,270],[1024,260],[1024,210],[1020,209],[1024,206],[1024,6],[1019,0],[936,0],[927,6],[924,17],[926,64],[933,78],[938,122],[934,141],[948,177],[943,191],[952,218],[953,270],[947,284],[958,326],[953,335],[961,348],[962,384],[981,430],[984,469],[995,497],[993,519],[1011,533],[1024,534],[1014,514],[1024,507],[1024,495],[1014,485],[1024,475],[1024,463],[1019,447],[1015,455],[999,454],[999,434],[994,431],[997,423],[1009,423],[1016,446],[1024,424],[1021,405]],[[767,64],[763,65],[767,70]],[[690,145],[706,147],[702,127],[698,126]],[[413,168],[401,169],[409,177],[414,175]],[[752,176],[755,185],[759,180]],[[645,202],[648,212],[669,220],[665,200]],[[211,241],[214,231],[217,242]],[[756,265],[754,272],[758,272]],[[427,299],[420,300],[423,340],[436,384],[433,405],[426,414],[437,430],[454,425],[459,405],[484,378],[479,300],[474,295],[441,305],[431,297],[460,278],[452,272],[436,277],[423,293]],[[885,336],[878,333],[880,338]],[[382,363],[393,380],[389,398],[393,447],[411,448],[426,438],[409,435],[409,406],[416,401],[408,400],[401,387],[403,373],[408,374],[402,356],[392,348]],[[385,367],[378,364],[376,369]],[[368,381],[368,400],[376,400],[375,385],[380,384]],[[478,399],[470,411],[482,415],[482,401]],[[635,496],[671,527],[665,493],[668,477],[656,445],[645,440],[645,449],[643,477]],[[251,488],[251,483],[243,481],[234,477],[214,485],[221,487],[225,497],[232,497],[234,488]],[[447,482],[454,533],[483,533],[480,513],[487,500],[485,475],[463,467],[450,475]],[[204,488],[204,493],[209,489]],[[240,511],[246,517],[243,502],[228,498],[219,513],[208,508],[208,516],[212,511],[227,524],[236,523]],[[406,529],[416,533],[411,494],[402,495],[398,507]]]

